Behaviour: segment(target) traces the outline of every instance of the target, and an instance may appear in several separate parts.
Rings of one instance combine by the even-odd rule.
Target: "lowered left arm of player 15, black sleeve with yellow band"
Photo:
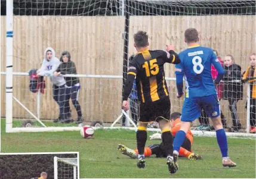
[[[136,74],[137,74],[137,68],[132,63],[132,61],[130,61],[129,67],[128,67],[128,73],[127,73],[127,80],[125,81],[123,101],[128,100],[128,97],[129,97],[129,94],[131,93],[132,86],[134,83],[134,78],[136,77]],[[127,108],[124,107],[124,109],[128,109],[128,106],[127,106]]]

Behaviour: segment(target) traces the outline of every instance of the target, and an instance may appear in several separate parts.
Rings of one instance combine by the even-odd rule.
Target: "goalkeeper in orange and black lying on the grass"
[[[180,116],[181,116],[180,112],[173,112],[170,117],[171,121],[172,121],[171,133],[172,133],[172,136],[174,136],[174,137],[175,137],[177,131],[180,130],[180,127],[181,127]],[[159,133],[153,134],[152,136],[150,136],[150,139],[161,139],[161,134],[159,134]],[[186,134],[184,143],[180,148],[179,156],[185,156],[189,160],[202,159],[202,156],[197,155],[192,152],[192,150],[191,150],[192,143],[193,143],[193,134],[189,130]],[[118,145],[118,150],[122,154],[127,155],[130,158],[137,158],[137,156],[138,156],[138,150],[129,149],[128,147],[121,145],[121,144]],[[160,158],[160,157],[165,158],[166,156],[165,156],[163,143],[161,143],[160,145],[153,144],[148,147],[145,147],[144,155],[145,156],[156,155],[156,157],[158,157],[158,158]]]

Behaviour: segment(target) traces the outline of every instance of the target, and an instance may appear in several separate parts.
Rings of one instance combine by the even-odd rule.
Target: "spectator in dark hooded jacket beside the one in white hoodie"
[[[61,64],[58,66],[57,70],[54,72],[54,76],[60,76],[60,74],[78,74],[76,72],[76,65],[73,61],[71,61],[70,53],[67,51],[63,51],[60,57]],[[78,102],[79,91],[81,89],[80,81],[78,77],[64,77],[66,80],[65,90],[64,90],[64,103],[65,108],[64,112],[69,112],[69,99],[73,103],[73,106],[76,108],[76,112],[78,114],[78,119],[76,123],[82,123],[84,120],[82,118],[81,106]],[[65,123],[69,123],[70,120],[67,119],[64,121]]]

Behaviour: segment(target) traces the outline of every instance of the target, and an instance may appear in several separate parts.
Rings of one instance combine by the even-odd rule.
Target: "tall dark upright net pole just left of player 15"
[[[123,86],[122,86],[122,96],[124,97],[124,86],[125,80],[127,79],[127,68],[128,68],[128,46],[129,46],[129,13],[126,7],[125,0],[122,1],[122,15],[125,16],[125,31],[123,34],[124,38],[124,56],[123,56]],[[128,125],[128,119],[125,119],[125,125]]]

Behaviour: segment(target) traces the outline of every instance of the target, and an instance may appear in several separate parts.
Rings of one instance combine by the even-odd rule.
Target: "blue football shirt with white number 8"
[[[186,98],[217,94],[211,65],[224,73],[223,67],[211,48],[190,46],[180,52],[180,64],[175,65],[175,74],[182,74],[186,84]]]

